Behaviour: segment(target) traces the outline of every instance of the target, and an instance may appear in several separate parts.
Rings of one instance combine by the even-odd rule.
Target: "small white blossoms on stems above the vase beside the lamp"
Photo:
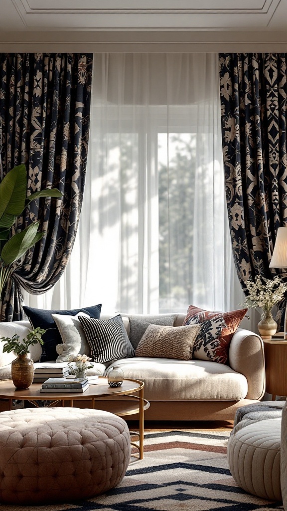
[[[260,307],[265,312],[271,311],[272,307],[284,298],[287,291],[287,284],[282,282],[279,277],[270,280],[257,275],[255,281],[246,281],[245,286],[248,296],[244,306],[248,308]]]

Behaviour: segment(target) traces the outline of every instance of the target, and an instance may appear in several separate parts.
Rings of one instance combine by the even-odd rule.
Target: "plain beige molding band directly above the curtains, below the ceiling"
[[[2,32],[1,52],[287,52],[284,31]]]

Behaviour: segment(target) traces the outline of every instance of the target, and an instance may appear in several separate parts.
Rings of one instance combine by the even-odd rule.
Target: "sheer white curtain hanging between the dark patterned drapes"
[[[217,54],[95,54],[86,185],[70,263],[26,304],[237,308]],[[37,305],[36,305],[37,304]]]

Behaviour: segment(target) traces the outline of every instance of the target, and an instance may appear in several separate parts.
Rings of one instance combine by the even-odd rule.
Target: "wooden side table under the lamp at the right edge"
[[[287,396],[287,340],[263,339],[266,370],[266,392]]]

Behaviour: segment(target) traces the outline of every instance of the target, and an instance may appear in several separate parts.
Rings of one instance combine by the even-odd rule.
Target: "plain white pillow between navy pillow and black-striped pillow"
[[[78,316],[90,317],[85,312],[79,312],[76,316],[52,314],[63,341],[63,344],[56,346],[59,355],[56,362],[67,362],[70,356],[76,356],[79,353],[90,356],[90,346]]]

